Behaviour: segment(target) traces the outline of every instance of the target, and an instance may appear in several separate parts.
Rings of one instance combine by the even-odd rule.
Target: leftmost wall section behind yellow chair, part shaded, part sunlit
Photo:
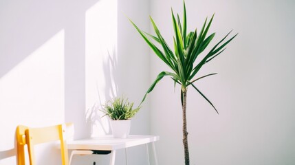
[[[76,137],[87,133],[85,11],[94,3],[0,2],[0,164],[16,162],[18,124],[71,121],[77,127]],[[40,155],[45,153],[58,155],[57,150]],[[42,164],[58,162],[40,159],[37,162]]]

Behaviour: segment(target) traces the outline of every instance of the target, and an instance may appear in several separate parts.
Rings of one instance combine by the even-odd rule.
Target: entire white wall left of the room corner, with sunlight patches
[[[98,113],[100,104],[124,94],[138,105],[149,85],[149,57],[138,52],[149,54],[149,49],[144,44],[134,46],[143,42],[139,37],[133,40],[136,34],[123,13],[149,27],[140,19],[149,8],[147,1],[129,3],[133,6],[116,0],[0,1],[1,165],[16,164],[18,124],[74,122],[76,138],[103,135],[111,132],[107,119]],[[145,102],[131,133],[149,134],[148,108]],[[42,158],[44,154],[43,149]],[[144,147],[130,150],[135,157],[131,164],[146,164],[144,154]],[[47,155],[57,157],[58,151]],[[124,152],[117,155],[122,164]],[[108,158],[75,159],[76,164],[93,164]],[[59,160],[40,159],[39,164]]]

